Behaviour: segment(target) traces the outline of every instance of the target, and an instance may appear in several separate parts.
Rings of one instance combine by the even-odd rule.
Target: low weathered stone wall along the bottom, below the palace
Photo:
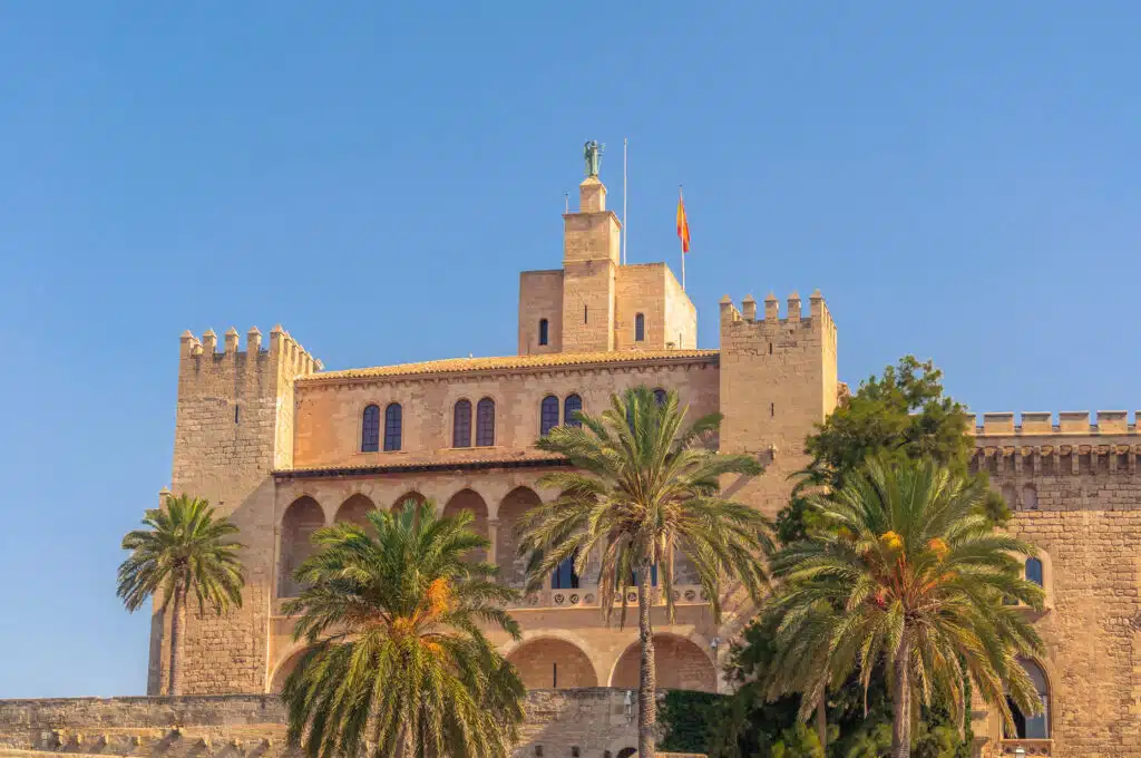
[[[637,693],[609,688],[535,690],[515,755],[617,756],[637,747]],[[284,751],[285,712],[274,695],[0,700],[0,755],[44,751],[131,756],[258,758]],[[173,733],[177,729],[177,733]]]

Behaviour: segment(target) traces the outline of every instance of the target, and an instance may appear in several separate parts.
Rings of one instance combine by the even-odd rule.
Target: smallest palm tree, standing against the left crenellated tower
[[[209,501],[181,494],[168,497],[162,507],[143,517],[146,529],[128,532],[123,549],[131,555],[119,566],[119,590],[133,613],[159,594],[161,608],[171,607],[170,680],[168,694],[183,694],[183,640],[186,639],[186,600],[193,595],[199,613],[209,606],[222,614],[242,606],[242,546],[226,516],[215,514]]]

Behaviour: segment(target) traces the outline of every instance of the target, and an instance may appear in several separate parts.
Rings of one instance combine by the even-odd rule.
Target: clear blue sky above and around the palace
[[[705,347],[818,287],[848,381],[1141,405],[1141,3],[413,5],[3,3],[0,696],[144,691],[114,570],[184,329],[511,354],[589,138],[631,261],[677,265],[685,184]]]

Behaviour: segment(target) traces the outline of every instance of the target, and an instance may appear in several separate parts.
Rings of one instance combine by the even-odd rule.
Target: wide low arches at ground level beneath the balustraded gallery
[[[695,642],[669,634],[654,635],[655,674],[662,690],[717,692],[717,669]],[[286,658],[274,672],[270,691],[281,692],[305,650]],[[535,637],[508,651],[507,660],[528,690],[617,687],[637,690],[641,648],[634,640],[617,660],[598,662],[581,646],[560,637]]]

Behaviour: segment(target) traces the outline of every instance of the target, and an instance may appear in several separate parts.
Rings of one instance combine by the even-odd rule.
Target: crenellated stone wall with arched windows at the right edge
[[[1014,510],[1011,531],[1043,562],[1046,610],[1027,610],[1045,639],[1050,755],[1141,756],[1141,476],[1136,433],[1089,414],[987,414],[976,467]],[[1084,416],[1084,422],[1076,418]],[[1124,414],[1122,414],[1124,417]],[[1044,426],[1035,427],[1045,417]],[[1116,414],[1115,414],[1116,417]],[[1029,422],[1029,424],[1028,424]],[[1101,427],[1100,429],[1098,427]],[[993,755],[996,715],[982,725]],[[1037,745],[1041,748],[1041,745]]]

